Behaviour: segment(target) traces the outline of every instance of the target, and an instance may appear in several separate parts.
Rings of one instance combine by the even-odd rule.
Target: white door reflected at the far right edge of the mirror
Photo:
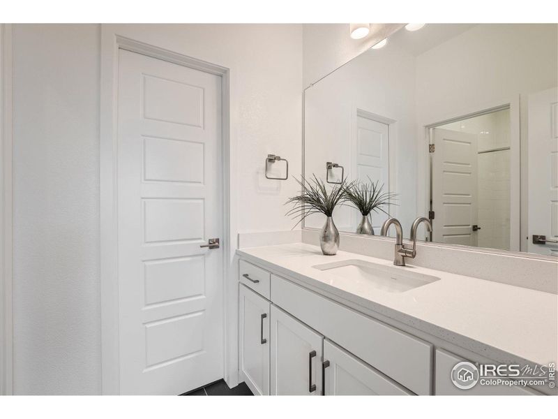
[[[529,96],[529,252],[558,256],[558,89]]]

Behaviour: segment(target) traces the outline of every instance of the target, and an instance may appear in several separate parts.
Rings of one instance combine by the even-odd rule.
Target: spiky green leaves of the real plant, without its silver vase
[[[318,179],[316,175],[312,175],[310,181],[303,176],[301,180],[296,179],[296,177],[294,179],[301,186],[301,194],[289,198],[285,203],[285,205],[293,205],[286,215],[299,220],[294,227],[298,226],[310,214],[332,216],[335,207],[342,205],[347,200],[345,189],[348,185],[345,179],[331,188],[322,179]]]

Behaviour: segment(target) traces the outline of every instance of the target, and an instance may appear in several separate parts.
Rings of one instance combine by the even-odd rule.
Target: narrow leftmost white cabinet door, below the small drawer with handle
[[[269,301],[240,284],[240,375],[255,395],[269,395]]]

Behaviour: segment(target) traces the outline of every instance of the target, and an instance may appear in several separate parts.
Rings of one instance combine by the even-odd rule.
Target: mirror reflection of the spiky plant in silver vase
[[[379,185],[379,182],[372,182],[370,177],[369,182],[351,182],[345,186],[345,198],[349,203],[359,210],[362,215],[359,226],[356,227],[356,233],[364,235],[374,235],[374,228],[372,228],[371,213],[383,212],[388,214],[383,207],[386,205],[395,205],[391,201],[395,199],[396,194],[391,192],[384,192],[384,185]]]

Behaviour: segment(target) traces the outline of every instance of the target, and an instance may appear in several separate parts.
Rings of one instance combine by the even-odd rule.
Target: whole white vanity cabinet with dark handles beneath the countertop
[[[240,262],[239,378],[255,395],[537,394],[504,385],[459,390],[451,382],[459,356]]]

